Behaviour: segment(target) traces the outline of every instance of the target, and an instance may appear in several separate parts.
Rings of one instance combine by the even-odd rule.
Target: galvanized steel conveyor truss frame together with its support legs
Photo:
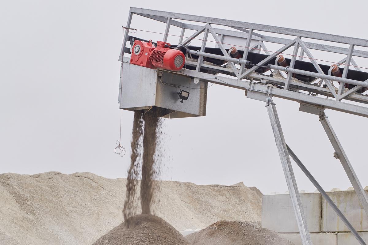
[[[300,111],[312,113],[319,116],[319,120],[325,129],[326,134],[331,141],[333,148],[335,149],[335,157],[340,160],[343,165],[344,170],[349,177],[355,192],[357,193],[358,199],[360,200],[365,212],[368,215],[368,198],[362,188],[353,167],[351,166],[343,148],[340,144],[332,126],[329,123],[327,116],[325,115],[325,109],[333,109],[336,111],[346,112],[349,114],[359,115],[368,117],[368,96],[356,94],[357,90],[362,87],[368,87],[368,80],[362,82],[357,80],[347,79],[348,68],[352,65],[357,71],[360,69],[357,67],[357,63],[353,59],[355,57],[368,58],[368,52],[364,50],[356,49],[355,46],[368,47],[368,40],[358,39],[352,37],[344,37],[337,35],[329,35],[325,33],[308,32],[304,30],[281,28],[276,26],[253,24],[241,21],[231,21],[227,19],[209,18],[196,15],[188,14],[178,14],[165,11],[149,10],[142,8],[130,8],[128,15],[127,28],[131,27],[131,21],[133,15],[140,15],[155,21],[166,23],[166,28],[163,33],[163,41],[167,40],[170,35],[170,26],[177,26],[181,28],[181,35],[178,40],[179,45],[187,45],[194,38],[203,34],[201,49],[198,51],[190,51],[192,54],[198,55],[199,59],[197,62],[187,60],[187,64],[195,66],[195,70],[184,69],[178,72],[178,74],[190,76],[194,78],[194,82],[198,83],[200,81],[216,83],[223,86],[234,87],[237,89],[245,90],[245,94],[248,98],[255,100],[266,101],[266,108],[270,118],[272,130],[275,136],[276,145],[279,151],[280,160],[283,166],[287,186],[289,188],[291,201],[293,203],[294,212],[297,219],[298,228],[300,231],[302,244],[311,245],[311,239],[309,235],[309,230],[307,222],[305,220],[304,210],[300,202],[300,195],[296,180],[293,173],[293,168],[291,166],[290,157],[294,159],[301,170],[307,175],[309,180],[315,185],[317,190],[321,192],[322,197],[326,199],[329,205],[332,206],[333,210],[337,215],[343,220],[344,224],[349,228],[351,233],[357,238],[360,244],[365,245],[365,242],[359,236],[359,234],[354,230],[349,221],[344,217],[343,213],[337,208],[335,203],[328,197],[326,192],[314,179],[311,173],[305,168],[301,161],[297,158],[294,152],[291,151],[289,146],[286,144],[279,117],[277,115],[275,104],[273,103],[273,97],[284,98],[287,100],[297,101],[300,105]],[[183,21],[198,22],[197,24],[188,24]],[[228,29],[214,28],[212,25],[224,26]],[[231,28],[231,29],[229,29]],[[196,32],[191,36],[184,39],[185,30],[195,30]],[[268,35],[262,35],[257,32],[269,33]],[[272,33],[289,35],[292,38],[286,39],[281,37],[272,36]],[[217,55],[221,60],[227,61],[229,67],[217,66],[215,64],[208,64],[203,61],[203,57],[209,57],[208,54],[204,53],[205,47],[209,35],[215,39],[217,46],[220,48],[224,56]],[[223,37],[231,36],[244,39],[244,54],[241,59],[235,59],[230,57],[223,45]],[[127,57],[124,57],[125,46],[129,37],[129,33],[125,32],[123,45],[121,48],[121,53],[119,61],[129,62]],[[303,38],[314,39],[315,42],[305,42]],[[251,45],[251,40],[256,40],[258,43],[256,45]],[[349,48],[342,48],[333,45],[323,45],[319,44],[318,40],[328,41],[333,43],[343,43],[348,44]],[[279,48],[276,52],[271,53],[265,43],[277,43],[283,46]],[[279,53],[286,51],[288,48],[293,48],[293,55],[291,58],[290,66],[288,68],[275,65],[269,65],[270,69],[275,71],[285,71],[287,72],[286,79],[280,79],[277,77],[264,75],[256,73],[256,69],[259,66],[266,64],[275,58]],[[259,62],[258,66],[253,66],[250,69],[245,69],[245,64],[248,64],[247,56],[249,52],[260,52],[261,49],[268,55],[264,60]],[[300,51],[299,51],[300,50]],[[322,69],[319,67],[317,61],[311,53],[311,50],[327,51],[331,53],[344,54],[346,55],[343,60],[337,62],[338,66],[344,64],[344,70],[341,78],[331,76],[331,70],[328,75],[324,74]],[[303,59],[303,55],[307,55],[310,62],[314,65],[316,71],[308,72],[303,70],[294,69],[294,64],[297,60],[297,54],[300,54],[299,60]],[[240,68],[238,66],[240,65]],[[212,75],[209,73],[201,72],[201,68],[209,68],[215,71],[226,72],[226,74],[232,73],[233,77],[225,77],[223,75]],[[293,81],[292,74],[297,73],[301,75],[313,76],[319,78],[319,81],[313,84],[300,83]],[[122,73],[123,74],[123,73]],[[245,80],[244,80],[245,79]],[[333,85],[333,81],[340,82],[338,88]],[[323,86],[326,84],[326,87]],[[344,91],[344,84],[354,84],[355,87]],[[330,99],[332,98],[332,99]],[[344,100],[344,101],[342,101]],[[353,101],[354,103],[350,103]]]

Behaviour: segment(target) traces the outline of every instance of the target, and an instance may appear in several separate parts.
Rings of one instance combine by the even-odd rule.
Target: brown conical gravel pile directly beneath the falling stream
[[[113,228],[93,245],[189,245],[187,240],[163,219],[154,215],[136,215]]]

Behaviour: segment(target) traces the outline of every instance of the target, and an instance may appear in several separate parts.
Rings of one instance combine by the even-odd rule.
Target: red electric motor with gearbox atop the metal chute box
[[[146,43],[135,40],[132,47],[130,64],[151,69],[162,68],[178,71],[184,66],[185,56],[180,50],[169,48],[169,46],[170,43],[161,41],[158,41],[157,47],[155,47],[151,41]]]

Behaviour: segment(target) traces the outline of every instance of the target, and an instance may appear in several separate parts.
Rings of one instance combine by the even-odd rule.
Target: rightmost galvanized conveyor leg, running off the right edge
[[[358,180],[357,174],[355,174],[353,166],[351,166],[350,161],[347,158],[347,155],[345,154],[345,151],[340,144],[340,141],[337,138],[335,131],[333,131],[333,128],[324,112],[321,112],[321,114],[319,115],[319,121],[322,123],[323,129],[325,129],[326,134],[331,141],[333,148],[335,149],[335,157],[339,159],[341,164],[343,165],[343,168],[351,184],[353,185],[355,192],[357,193],[358,199],[368,216],[368,197],[365,194],[365,191]]]

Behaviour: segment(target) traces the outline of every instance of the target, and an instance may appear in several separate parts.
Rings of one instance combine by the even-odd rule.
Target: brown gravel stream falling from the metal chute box
[[[131,141],[131,163],[127,177],[127,193],[124,202],[123,215],[125,224],[129,227],[130,217],[137,215],[138,204],[141,213],[150,214],[151,205],[155,201],[158,191],[157,178],[159,176],[159,161],[155,153],[159,144],[158,136],[161,132],[162,119],[155,115],[144,115],[143,111],[134,112]],[[141,181],[139,179],[141,178]],[[140,182],[140,195],[137,189]]]

